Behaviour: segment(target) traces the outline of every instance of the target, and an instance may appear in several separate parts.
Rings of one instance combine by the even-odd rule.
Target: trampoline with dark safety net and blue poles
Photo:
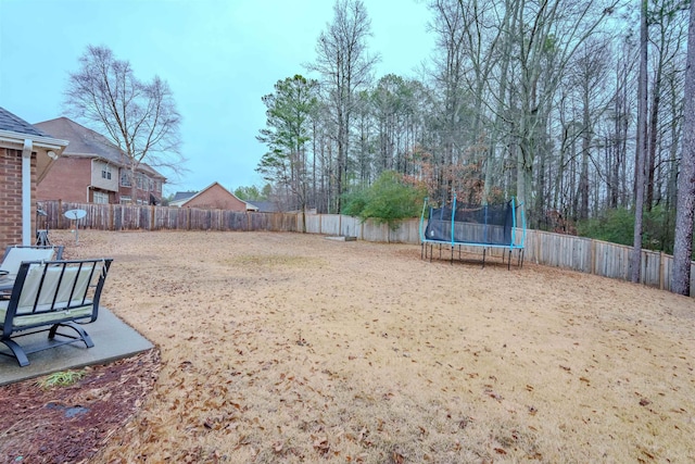
[[[426,213],[427,214],[426,216]],[[520,224],[517,224],[517,216]],[[457,203],[456,196],[450,205],[434,208],[425,199],[420,217],[420,258],[430,262],[434,246],[439,246],[440,259],[442,249],[451,247],[451,262],[458,248],[482,249],[482,266],[485,266],[485,252],[490,249],[502,249],[502,260],[508,255],[507,268],[511,267],[513,253],[517,253],[517,265],[523,266],[523,242],[526,241],[526,216],[522,203],[517,204],[513,197],[509,201],[496,204]]]

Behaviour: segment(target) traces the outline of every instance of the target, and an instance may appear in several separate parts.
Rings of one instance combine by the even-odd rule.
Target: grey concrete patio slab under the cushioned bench
[[[132,327],[121,321],[105,308],[99,309],[99,318],[85,325],[94,346],[87,349],[85,343],[63,344],[28,355],[30,364],[20,367],[14,358],[0,355],[0,386],[14,384],[54,372],[79,368],[88,365],[105,364],[128,358],[153,348],[153,344]],[[47,333],[22,337],[23,347],[46,343]],[[9,353],[0,343],[0,351]]]

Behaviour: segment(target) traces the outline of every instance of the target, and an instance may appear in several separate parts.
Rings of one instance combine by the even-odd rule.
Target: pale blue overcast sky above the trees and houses
[[[364,0],[376,77],[415,77],[430,55],[422,0]],[[168,81],[182,116],[189,170],[164,193],[214,181],[233,191],[263,185],[261,97],[303,74],[333,0],[0,0],[0,106],[39,123],[63,115],[68,73],[88,45],[128,60],[137,77]],[[312,76],[316,77],[316,76]],[[163,172],[168,176],[168,173]]]

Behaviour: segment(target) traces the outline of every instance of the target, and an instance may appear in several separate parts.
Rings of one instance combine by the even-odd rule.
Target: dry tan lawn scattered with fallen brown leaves
[[[417,246],[51,231],[161,350],[96,462],[693,462],[695,301]],[[72,244],[71,244],[72,243]]]

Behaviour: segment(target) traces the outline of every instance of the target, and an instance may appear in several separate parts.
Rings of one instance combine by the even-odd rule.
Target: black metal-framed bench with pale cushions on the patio
[[[10,353],[21,366],[29,364],[27,354],[83,341],[94,343],[80,324],[99,316],[99,299],[112,259],[70,261],[25,261],[20,265],[9,300],[0,301],[0,329]],[[65,334],[70,328],[75,334]],[[22,347],[17,339],[48,331],[45,343]],[[56,338],[59,337],[59,338]]]

